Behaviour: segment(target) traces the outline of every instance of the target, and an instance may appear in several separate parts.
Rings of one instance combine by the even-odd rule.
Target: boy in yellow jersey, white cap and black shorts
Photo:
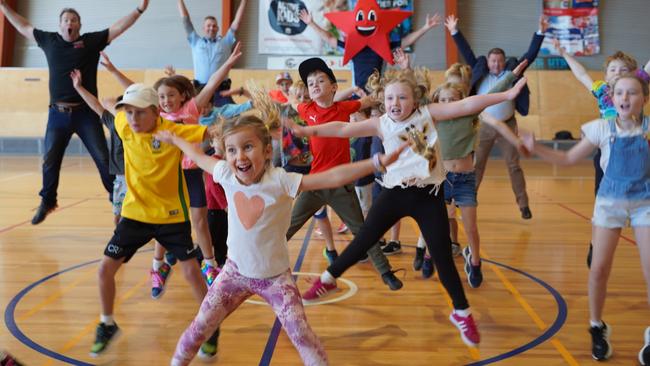
[[[127,193],[122,219],[99,266],[102,312],[91,356],[105,351],[119,332],[113,319],[115,273],[151,239],[158,240],[180,260],[185,279],[199,302],[207,292],[191,237],[182,152],[154,138],[154,133],[169,130],[188,141],[200,142],[206,127],[176,124],[160,117],[158,94],[142,84],[129,86],[116,108],[119,112],[115,116],[115,131],[124,145]],[[216,355],[217,337],[218,330],[204,344],[208,349],[205,356]]]

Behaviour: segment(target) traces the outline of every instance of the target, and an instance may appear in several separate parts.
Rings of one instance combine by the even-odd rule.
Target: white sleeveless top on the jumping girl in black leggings
[[[400,154],[399,159],[386,168],[382,177],[381,185],[386,188],[407,187],[407,186],[439,186],[445,180],[445,170],[440,155],[440,143],[438,132],[433,124],[433,118],[429,109],[420,107],[413,112],[406,121],[393,121],[388,115],[379,117],[379,129],[382,135],[382,142],[386,153],[391,153],[399,148],[408,138],[407,129],[415,128],[426,136],[424,143],[433,148],[433,156],[436,158],[436,165],[429,170],[429,160],[423,155],[416,153],[412,148],[406,148]],[[431,152],[431,150],[429,150]]]

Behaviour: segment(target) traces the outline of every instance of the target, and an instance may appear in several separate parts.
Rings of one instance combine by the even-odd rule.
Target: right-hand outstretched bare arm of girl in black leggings
[[[510,90],[484,95],[474,95],[452,103],[431,103],[427,105],[431,117],[436,121],[477,114],[485,108],[506,100],[514,100],[521,89],[526,85],[526,78],[522,78]]]

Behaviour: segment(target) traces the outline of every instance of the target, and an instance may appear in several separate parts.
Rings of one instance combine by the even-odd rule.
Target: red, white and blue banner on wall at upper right
[[[544,0],[549,28],[542,43],[542,55],[558,55],[553,40],[569,54],[589,56],[600,53],[598,36],[599,0]]]

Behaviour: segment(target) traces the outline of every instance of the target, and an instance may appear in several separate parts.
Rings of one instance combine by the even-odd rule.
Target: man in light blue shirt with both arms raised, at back
[[[219,35],[219,24],[217,18],[212,15],[208,15],[203,19],[204,36],[199,36],[194,29],[194,25],[192,25],[190,14],[187,11],[187,7],[185,7],[185,2],[183,0],[178,0],[178,11],[183,19],[183,27],[185,28],[187,40],[192,49],[194,81],[197,84],[195,86],[204,86],[208,82],[210,75],[214,74],[214,72],[223,65],[228,56],[230,56],[232,47],[237,41],[235,32],[237,32],[237,29],[239,29],[239,25],[241,24],[244,9],[246,8],[246,2],[247,0],[241,0],[239,3],[235,19],[225,36]],[[221,85],[219,85],[219,88],[217,88],[212,99],[215,106],[220,107],[227,103],[234,103],[231,97],[222,97],[220,94],[221,91],[230,89],[230,83],[230,79],[225,79]]]

